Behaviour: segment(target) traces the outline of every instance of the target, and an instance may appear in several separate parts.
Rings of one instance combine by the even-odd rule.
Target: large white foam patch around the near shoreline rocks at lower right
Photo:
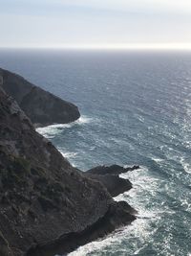
[[[131,225],[123,227],[111,235],[97,240],[95,242],[80,246],[70,256],[88,256],[100,255],[115,252],[115,248],[122,250],[120,243],[122,241],[130,241],[131,246],[124,247],[124,255],[137,255],[144,247],[145,241],[150,241],[157,231],[157,228],[151,226],[151,221],[160,218],[163,211],[160,209],[146,209],[146,203],[151,200],[152,192],[158,190],[159,180],[148,174],[148,169],[141,167],[133,172],[120,175],[123,178],[129,178],[134,187],[129,192],[121,194],[115,198],[116,200],[126,200],[138,210],[138,219]],[[149,194],[150,193],[150,194]],[[145,196],[146,195],[146,196]],[[148,197],[148,198],[147,198]],[[117,251],[116,251],[117,253]]]

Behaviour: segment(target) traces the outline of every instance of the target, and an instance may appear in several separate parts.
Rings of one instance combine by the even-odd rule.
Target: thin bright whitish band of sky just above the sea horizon
[[[1,49],[47,50],[180,50],[191,51],[191,43],[116,43],[116,44],[50,44],[50,45],[0,45]]]

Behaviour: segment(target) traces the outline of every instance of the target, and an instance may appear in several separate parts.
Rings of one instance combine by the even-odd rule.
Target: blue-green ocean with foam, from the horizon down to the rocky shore
[[[116,198],[138,220],[71,256],[191,255],[191,53],[6,50],[0,66],[78,105],[38,129],[74,166],[140,165]]]

